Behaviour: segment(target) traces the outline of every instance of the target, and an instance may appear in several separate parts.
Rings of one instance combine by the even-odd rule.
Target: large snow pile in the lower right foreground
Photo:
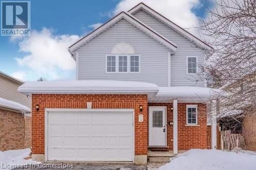
[[[256,156],[220,150],[189,150],[159,170],[254,170]]]

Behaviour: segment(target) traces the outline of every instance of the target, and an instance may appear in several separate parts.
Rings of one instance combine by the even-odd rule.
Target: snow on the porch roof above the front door
[[[173,86],[173,87],[159,87],[158,96],[213,96],[221,90],[194,87],[194,86]]]

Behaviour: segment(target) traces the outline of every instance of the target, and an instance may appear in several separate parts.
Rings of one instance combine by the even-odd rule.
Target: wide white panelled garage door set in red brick
[[[133,161],[133,110],[48,111],[49,161]]]

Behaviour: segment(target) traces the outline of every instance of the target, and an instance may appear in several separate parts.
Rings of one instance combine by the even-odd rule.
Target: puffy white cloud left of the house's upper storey
[[[36,74],[49,80],[65,78],[61,71],[75,68],[68,47],[78,39],[78,35],[53,35],[47,28],[39,32],[32,31],[30,37],[19,42],[19,51],[28,55],[16,58],[16,61],[27,74]]]

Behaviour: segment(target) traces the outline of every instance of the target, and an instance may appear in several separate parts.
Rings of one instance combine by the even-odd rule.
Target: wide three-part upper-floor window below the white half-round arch
[[[106,72],[139,72],[140,57],[138,55],[107,55]]]

